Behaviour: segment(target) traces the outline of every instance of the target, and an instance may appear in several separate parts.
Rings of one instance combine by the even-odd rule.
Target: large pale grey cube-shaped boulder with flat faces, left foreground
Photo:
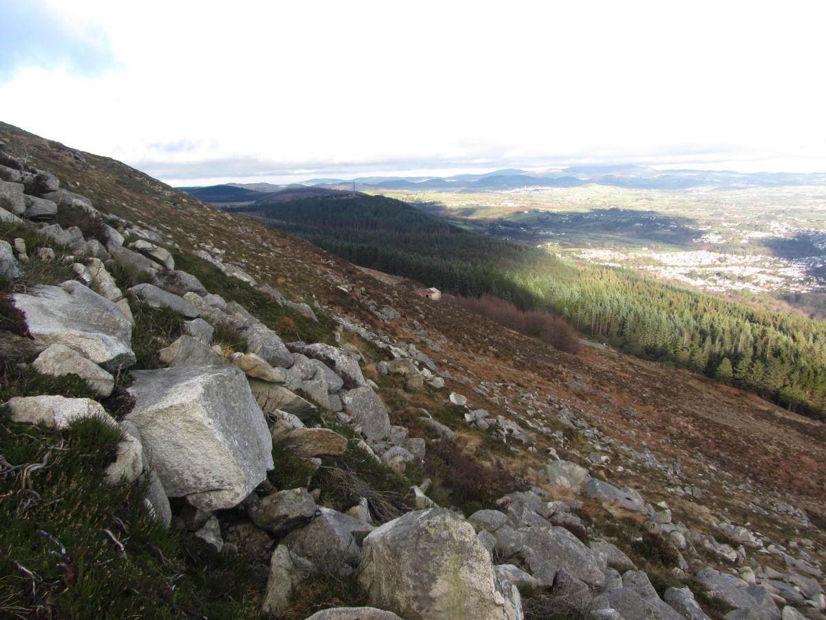
[[[232,508],[273,468],[273,441],[234,366],[177,366],[132,374],[128,392],[164,489],[203,510]]]

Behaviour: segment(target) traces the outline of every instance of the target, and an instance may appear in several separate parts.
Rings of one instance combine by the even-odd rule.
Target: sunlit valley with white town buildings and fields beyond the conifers
[[[589,184],[382,194],[468,230],[710,293],[826,290],[826,187],[639,189]]]

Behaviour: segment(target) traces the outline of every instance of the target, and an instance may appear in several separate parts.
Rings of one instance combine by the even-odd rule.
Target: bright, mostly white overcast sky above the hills
[[[826,2],[0,0],[0,120],[176,186],[826,172]]]

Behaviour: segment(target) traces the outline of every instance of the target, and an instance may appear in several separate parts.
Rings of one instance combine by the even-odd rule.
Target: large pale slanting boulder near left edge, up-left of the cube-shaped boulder
[[[131,323],[114,303],[83,284],[38,285],[12,300],[35,341],[68,346],[111,372],[135,363]]]

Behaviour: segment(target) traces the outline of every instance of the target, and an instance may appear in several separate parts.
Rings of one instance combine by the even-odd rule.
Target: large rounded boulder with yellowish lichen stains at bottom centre
[[[470,523],[445,508],[406,513],[364,539],[358,584],[402,618],[515,618]],[[518,614],[518,615],[517,615]]]

